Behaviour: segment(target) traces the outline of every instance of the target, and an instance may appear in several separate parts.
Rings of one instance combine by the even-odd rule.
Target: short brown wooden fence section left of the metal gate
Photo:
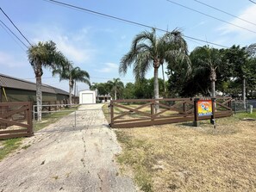
[[[0,139],[33,134],[31,102],[0,102]]]

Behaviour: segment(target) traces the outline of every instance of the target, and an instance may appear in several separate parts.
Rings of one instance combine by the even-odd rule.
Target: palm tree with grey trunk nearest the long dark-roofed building
[[[56,44],[50,40],[47,42],[39,42],[28,48],[28,60],[34,70],[36,80],[36,105],[37,105],[37,121],[41,121],[41,77],[43,75],[42,68],[55,68],[60,64],[62,54],[57,51]]]

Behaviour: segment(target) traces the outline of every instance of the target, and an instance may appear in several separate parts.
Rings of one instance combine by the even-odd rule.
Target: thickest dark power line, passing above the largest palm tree
[[[78,9],[78,10],[85,11],[85,12],[88,12],[88,13],[91,13],[91,14],[94,14],[94,15],[101,15],[103,17],[114,19],[114,20],[117,20],[117,21],[120,21],[120,22],[127,22],[127,23],[130,23],[130,24],[134,24],[136,26],[144,27],[144,28],[153,28],[152,26],[149,26],[149,25],[146,25],[146,24],[143,24],[143,23],[140,23],[140,22],[133,22],[133,21],[130,21],[130,20],[127,20],[127,19],[122,19],[122,18],[117,17],[117,16],[103,14],[103,13],[100,13],[100,12],[97,12],[97,11],[94,11],[94,10],[91,10],[91,9],[84,9],[82,7],[78,7],[78,6],[69,4],[69,3],[62,3],[62,2],[59,2],[59,1],[55,1],[55,0],[43,0],[43,1],[46,1],[48,3],[54,3],[54,4],[57,4],[59,6],[65,6],[67,8],[71,8],[71,9]],[[162,28],[155,28],[155,29],[159,30],[161,32],[168,32],[167,30],[162,29]],[[200,39],[197,39],[195,37],[190,37],[190,36],[186,36],[186,35],[183,35],[183,36],[184,36],[184,38],[187,38],[187,39],[190,39],[190,40],[197,40],[197,41],[208,43],[208,44],[211,44],[211,45],[214,45],[214,46],[221,46],[221,47],[224,47],[224,48],[228,48],[228,46],[222,46],[220,44],[213,43],[213,42],[206,42],[205,40],[200,40]]]

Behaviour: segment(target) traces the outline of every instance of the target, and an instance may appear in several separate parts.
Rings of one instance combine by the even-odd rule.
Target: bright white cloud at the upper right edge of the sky
[[[238,16],[246,21],[256,23],[256,4],[253,4],[252,6],[248,7],[247,9],[242,11],[241,14]],[[255,33],[256,33],[255,25],[248,22],[241,21],[238,18],[235,18],[230,23],[234,24],[235,26],[240,26],[241,28],[237,28],[234,25],[225,24],[225,25],[222,25],[222,27],[217,28],[217,31],[221,32],[220,35],[222,36],[232,35],[233,41],[234,40],[239,40],[239,41],[255,40]],[[243,28],[247,28],[251,31],[254,31],[255,33],[253,34],[253,32],[247,31],[246,29],[243,29]]]

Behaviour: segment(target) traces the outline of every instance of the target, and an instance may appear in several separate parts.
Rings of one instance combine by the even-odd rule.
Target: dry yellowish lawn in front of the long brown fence
[[[118,162],[143,191],[256,191],[256,121],[230,117],[116,130]]]

